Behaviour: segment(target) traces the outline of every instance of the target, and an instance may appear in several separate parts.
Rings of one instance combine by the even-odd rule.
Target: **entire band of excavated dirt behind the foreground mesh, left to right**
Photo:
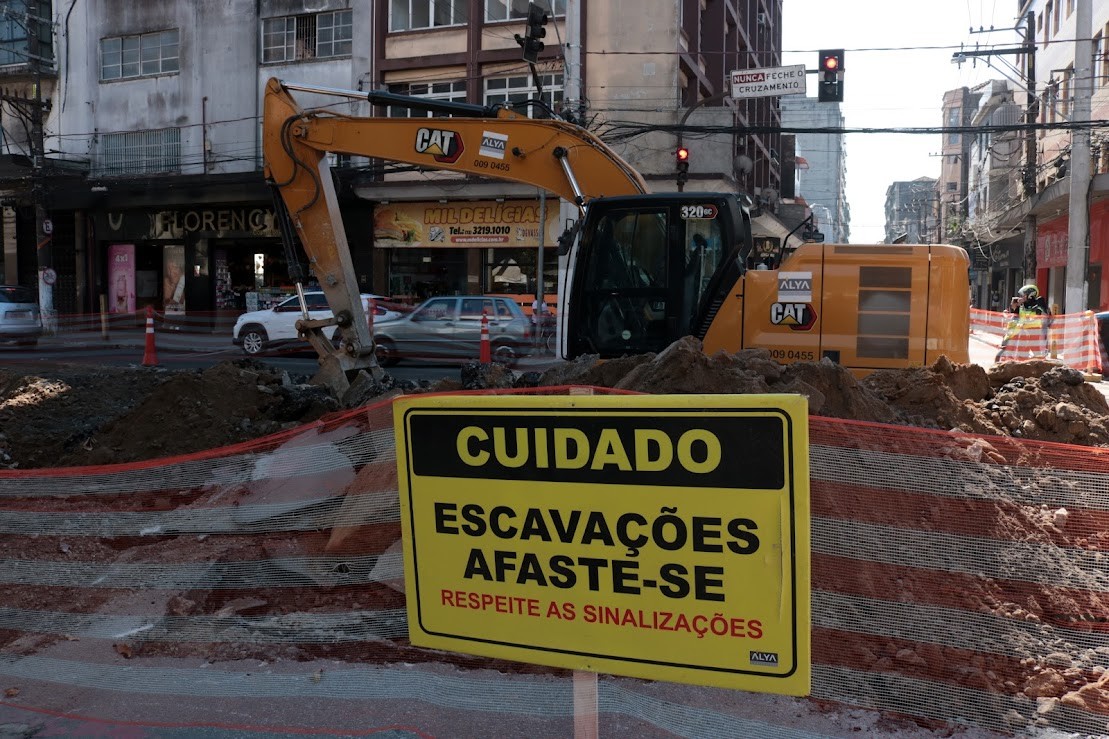
[[[942,358],[863,379],[831,362],[780,365],[764,350],[708,356],[694,338],[658,355],[584,356],[517,375],[471,363],[436,385],[356,383],[343,399],[255,360],[204,371],[43,366],[0,371],[0,466],[140,462],[267,436],[383,393],[596,385],[642,393],[797,393],[812,415],[1109,446],[1109,405],[1081,373],[1041,361],[984,370]]]

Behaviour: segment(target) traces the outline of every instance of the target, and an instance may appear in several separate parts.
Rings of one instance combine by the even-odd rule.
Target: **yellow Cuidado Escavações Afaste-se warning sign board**
[[[806,695],[796,395],[404,398],[413,644]]]

